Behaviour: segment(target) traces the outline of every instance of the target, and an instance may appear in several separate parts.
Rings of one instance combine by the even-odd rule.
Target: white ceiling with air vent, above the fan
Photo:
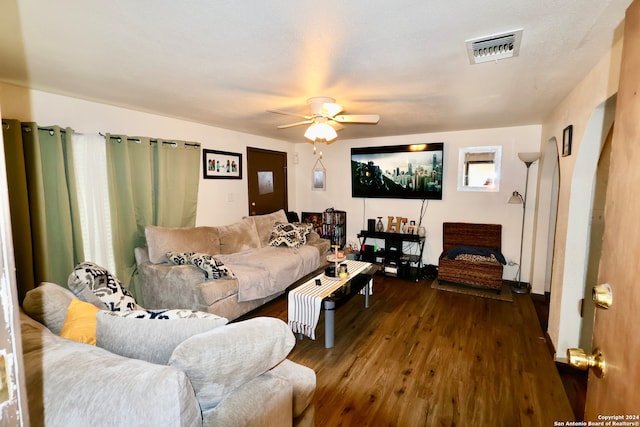
[[[339,139],[539,124],[630,3],[3,0],[0,81],[292,142],[266,110],[312,96],[381,116]],[[519,57],[469,64],[466,40],[520,28]]]

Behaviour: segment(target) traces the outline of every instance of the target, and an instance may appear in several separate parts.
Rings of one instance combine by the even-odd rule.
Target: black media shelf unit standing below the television
[[[360,260],[382,264],[381,272],[390,276],[420,280],[425,237],[418,234],[389,233],[362,230],[358,233]],[[384,240],[384,248],[377,252],[370,239]],[[416,253],[417,252],[417,253]]]

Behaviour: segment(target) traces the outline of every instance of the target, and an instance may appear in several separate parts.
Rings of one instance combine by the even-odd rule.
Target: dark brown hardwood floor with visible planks
[[[505,302],[375,276],[336,312],[335,347],[298,341],[317,426],[553,426],[575,420],[531,297]],[[249,317],[287,320],[286,297]]]

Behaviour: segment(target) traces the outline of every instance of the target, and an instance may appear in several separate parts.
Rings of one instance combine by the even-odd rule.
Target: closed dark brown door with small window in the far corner
[[[249,215],[288,210],[287,153],[247,147]]]

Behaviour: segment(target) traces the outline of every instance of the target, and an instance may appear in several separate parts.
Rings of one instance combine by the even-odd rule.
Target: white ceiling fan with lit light
[[[376,124],[380,120],[377,114],[340,114],[342,107],[336,104],[336,100],[324,96],[316,96],[307,99],[311,114],[303,115],[281,110],[267,110],[270,113],[284,114],[299,117],[304,120],[278,126],[278,129],[286,129],[300,125],[310,125],[304,133],[305,138],[311,142],[333,142],[338,134],[336,131],[344,129],[342,123],[368,123]]]

